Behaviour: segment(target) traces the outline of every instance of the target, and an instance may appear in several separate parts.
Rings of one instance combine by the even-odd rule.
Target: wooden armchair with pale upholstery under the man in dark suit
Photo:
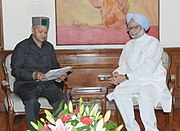
[[[13,93],[13,83],[15,81],[15,78],[11,75],[11,67],[10,67],[11,56],[12,54],[9,54],[3,62],[5,80],[2,81],[2,87],[6,94],[4,98],[4,105],[5,105],[7,116],[8,116],[7,127],[9,131],[13,131],[15,116],[25,115],[25,109],[24,109],[24,104],[22,100]],[[66,89],[67,89],[66,81],[57,83],[57,85],[59,85],[59,87],[61,87],[60,89],[64,93],[66,93]],[[41,104],[40,112],[39,112],[40,114],[44,113],[44,109],[49,109],[49,110],[52,109],[52,106],[48,103],[46,98],[40,97],[38,101]]]

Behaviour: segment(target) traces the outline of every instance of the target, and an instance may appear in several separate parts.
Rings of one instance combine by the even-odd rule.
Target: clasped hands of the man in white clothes
[[[119,74],[118,72],[113,73],[113,77],[111,79],[112,83],[118,85],[123,81],[127,80],[125,75]]]

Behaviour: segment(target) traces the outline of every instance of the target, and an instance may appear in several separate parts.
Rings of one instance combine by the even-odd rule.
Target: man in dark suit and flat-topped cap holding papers
[[[53,107],[58,109],[59,104],[67,102],[67,96],[61,92],[53,80],[45,79],[45,73],[51,69],[58,69],[53,45],[47,41],[49,18],[33,17],[32,34],[29,38],[18,43],[12,54],[12,72],[16,78],[14,91],[25,105],[28,129],[35,130],[30,121],[37,123],[40,104],[39,97],[45,97]],[[59,78],[64,80],[67,74]]]

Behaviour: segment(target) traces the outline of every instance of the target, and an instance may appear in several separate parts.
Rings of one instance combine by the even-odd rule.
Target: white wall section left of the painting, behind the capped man
[[[32,16],[50,18],[48,40],[55,43],[55,0],[2,0],[4,49],[15,45],[31,34]]]

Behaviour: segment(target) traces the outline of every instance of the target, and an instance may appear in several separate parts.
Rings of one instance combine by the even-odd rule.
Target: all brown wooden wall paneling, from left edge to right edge
[[[172,57],[171,75],[176,76],[176,108],[180,108],[180,48],[165,49]],[[68,92],[73,87],[108,86],[107,80],[100,80],[99,75],[111,75],[117,68],[121,49],[99,50],[57,50],[57,58],[62,67],[73,66],[68,77]],[[10,51],[0,51],[0,81],[4,79],[2,61]],[[109,90],[111,92],[112,89]],[[0,87],[0,111],[3,107],[4,92]]]

